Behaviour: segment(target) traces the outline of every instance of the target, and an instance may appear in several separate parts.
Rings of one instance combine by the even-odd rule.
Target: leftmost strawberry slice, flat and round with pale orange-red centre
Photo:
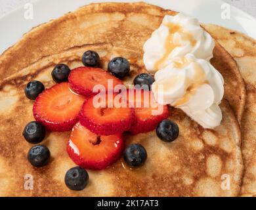
[[[68,83],[60,83],[37,97],[33,104],[33,116],[49,131],[70,131],[77,123],[84,102],[84,96],[72,93]]]

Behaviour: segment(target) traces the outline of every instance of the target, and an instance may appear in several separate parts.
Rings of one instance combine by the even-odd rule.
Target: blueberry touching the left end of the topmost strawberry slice
[[[53,80],[56,83],[62,83],[68,81],[68,76],[70,75],[70,68],[65,64],[58,64],[54,67],[52,72]]]

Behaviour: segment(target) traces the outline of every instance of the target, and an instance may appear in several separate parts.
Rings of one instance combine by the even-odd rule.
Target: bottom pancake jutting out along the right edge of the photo
[[[205,25],[207,31],[234,57],[245,80],[247,100],[242,119],[242,154],[245,174],[243,196],[256,196],[256,41],[238,31]]]

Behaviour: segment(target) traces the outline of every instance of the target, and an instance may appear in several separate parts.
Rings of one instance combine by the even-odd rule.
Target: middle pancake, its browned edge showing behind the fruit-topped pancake
[[[177,12],[146,3],[99,3],[70,12],[57,20],[33,28],[0,56],[0,79],[33,64],[43,56],[75,46],[112,43],[142,54],[142,47],[166,14]],[[225,95],[240,122],[245,87],[232,57],[216,45],[211,60],[225,79]],[[236,89],[236,95],[232,90]]]

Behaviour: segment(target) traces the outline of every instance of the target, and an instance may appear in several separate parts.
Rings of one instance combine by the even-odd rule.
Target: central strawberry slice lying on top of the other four
[[[83,104],[79,115],[81,125],[97,135],[108,136],[129,131],[134,120],[133,108],[128,106],[118,108],[118,104],[115,105],[117,95],[112,95],[113,97],[101,96],[106,96],[106,100],[102,99],[101,102],[95,104],[94,98],[97,96],[94,96]]]

